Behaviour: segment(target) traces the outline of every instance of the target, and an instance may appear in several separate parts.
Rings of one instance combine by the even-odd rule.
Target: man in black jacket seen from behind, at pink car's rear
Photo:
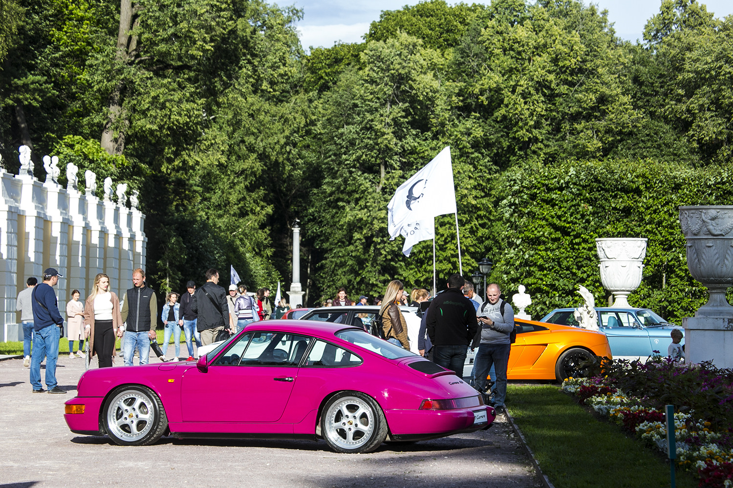
[[[432,300],[425,319],[427,336],[433,344],[432,360],[452,369],[459,378],[463,377],[468,345],[479,329],[476,309],[471,300],[463,296],[463,285],[463,276],[452,275],[448,279],[448,289]]]

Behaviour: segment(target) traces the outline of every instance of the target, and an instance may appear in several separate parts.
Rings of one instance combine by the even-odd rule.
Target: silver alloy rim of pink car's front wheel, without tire
[[[117,438],[135,442],[150,432],[154,424],[154,400],[138,389],[121,391],[107,408],[107,426]]]

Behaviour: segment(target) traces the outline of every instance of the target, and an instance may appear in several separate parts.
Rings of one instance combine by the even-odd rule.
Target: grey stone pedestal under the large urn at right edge
[[[733,318],[686,317],[682,327],[688,363],[712,361],[716,367],[733,368]]]

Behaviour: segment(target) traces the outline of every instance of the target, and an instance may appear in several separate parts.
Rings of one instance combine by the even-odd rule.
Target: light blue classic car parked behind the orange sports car
[[[682,327],[668,323],[650,309],[595,307],[600,331],[608,337],[614,359],[641,359],[659,351],[667,355],[667,348],[672,342],[672,329]],[[557,323],[563,326],[579,326],[573,315],[575,309],[554,309],[539,319],[541,322]],[[684,331],[682,331],[684,334]],[[682,340],[684,344],[684,339]]]

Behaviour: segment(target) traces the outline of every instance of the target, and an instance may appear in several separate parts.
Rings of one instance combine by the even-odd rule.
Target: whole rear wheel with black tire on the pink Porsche
[[[342,391],[326,402],[320,430],[336,452],[372,452],[387,438],[387,421],[379,404],[360,391]]]

